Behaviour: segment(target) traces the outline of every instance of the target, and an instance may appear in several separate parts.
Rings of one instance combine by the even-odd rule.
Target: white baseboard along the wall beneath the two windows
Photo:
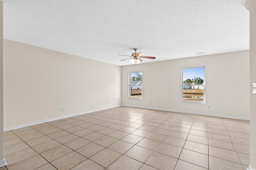
[[[223,117],[223,118],[230,118],[230,119],[250,120],[250,118],[248,118],[248,117],[237,117],[237,116],[228,116],[228,115],[216,115],[216,114],[210,114],[210,113],[199,113],[199,112],[192,112],[192,111],[162,109],[162,108],[156,108],[156,107],[131,106],[131,105],[125,105],[125,104],[122,104],[122,106],[126,106],[126,107],[138,107],[138,108],[143,108],[143,109],[163,110],[163,111],[173,111],[173,112],[188,113],[188,114],[195,114],[195,115],[205,115],[205,116]]]

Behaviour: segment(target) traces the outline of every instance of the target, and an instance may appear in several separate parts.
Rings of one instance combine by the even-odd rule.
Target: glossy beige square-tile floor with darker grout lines
[[[114,107],[4,132],[0,170],[244,170],[250,122]]]

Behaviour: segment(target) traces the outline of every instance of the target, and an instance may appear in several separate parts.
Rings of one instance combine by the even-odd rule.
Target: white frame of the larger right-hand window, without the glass
[[[202,84],[184,84],[184,80],[183,80],[183,70],[184,69],[188,69],[188,68],[203,68],[203,83]],[[195,86],[195,85],[198,85],[198,86],[203,86],[203,101],[200,102],[200,101],[184,101],[183,99],[183,90],[184,90],[184,86]],[[181,68],[181,102],[189,102],[189,103],[200,103],[200,104],[205,104],[205,66],[192,66],[192,67],[182,67]]]

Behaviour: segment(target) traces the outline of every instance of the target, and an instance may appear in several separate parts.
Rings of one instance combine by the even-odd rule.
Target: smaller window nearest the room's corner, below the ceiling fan
[[[142,99],[142,72],[130,72],[129,98]]]

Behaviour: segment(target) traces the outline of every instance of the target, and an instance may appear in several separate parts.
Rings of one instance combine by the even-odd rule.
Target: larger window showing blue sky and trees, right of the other
[[[205,103],[204,66],[182,68],[182,102]]]

